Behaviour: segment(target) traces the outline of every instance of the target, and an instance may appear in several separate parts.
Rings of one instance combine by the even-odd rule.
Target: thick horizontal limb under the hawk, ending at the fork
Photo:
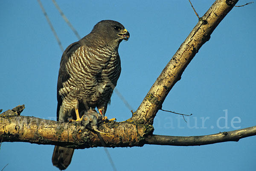
[[[10,110],[9,110],[10,111]],[[76,125],[75,125],[76,124]],[[2,142],[29,142],[84,149],[90,147],[143,146],[143,140],[152,134],[153,126],[125,122],[108,122],[99,126],[104,143],[97,132],[79,123],[61,123],[29,116],[0,115],[0,140]]]

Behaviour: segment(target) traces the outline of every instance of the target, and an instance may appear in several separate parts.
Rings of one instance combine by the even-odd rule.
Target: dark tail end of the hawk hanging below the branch
[[[52,154],[52,164],[60,170],[65,170],[70,165],[74,149],[55,146]]]

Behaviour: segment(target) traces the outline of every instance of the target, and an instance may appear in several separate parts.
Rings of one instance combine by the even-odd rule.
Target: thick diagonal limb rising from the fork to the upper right
[[[180,45],[175,55],[163,69],[140,107],[134,112],[133,120],[153,125],[154,117],[161,109],[163,101],[169,91],[180,80],[183,71],[193,59],[198,50],[210,39],[210,35],[233,8],[238,0],[216,0],[203,17],[199,19],[195,28]],[[228,4],[227,4],[228,3]]]

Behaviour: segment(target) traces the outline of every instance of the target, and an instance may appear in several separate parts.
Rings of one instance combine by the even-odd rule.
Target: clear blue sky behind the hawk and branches
[[[58,0],[78,31],[87,35],[100,20],[121,22],[131,38],[119,46],[122,73],[117,89],[134,110],[198,22],[187,0]],[[192,0],[200,17],[214,1]],[[248,1],[240,0],[239,4]],[[51,0],[42,1],[64,48],[77,41]],[[154,134],[209,135],[256,125],[256,8],[234,8],[202,46],[163,103],[193,113],[188,123],[159,111]],[[55,120],[56,84],[62,52],[37,1],[0,1],[0,109],[21,104],[22,115]],[[106,116],[124,121],[131,112],[115,93]],[[117,170],[232,170],[256,167],[256,137],[207,146],[145,145],[108,149]],[[0,169],[57,171],[54,146],[2,143]],[[103,148],[76,150],[67,171],[112,170]]]

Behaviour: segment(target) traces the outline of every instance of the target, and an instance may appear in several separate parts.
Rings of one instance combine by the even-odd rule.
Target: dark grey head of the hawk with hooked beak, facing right
[[[102,20],[98,22],[90,34],[102,39],[106,43],[116,44],[117,46],[122,40],[127,41],[130,38],[130,34],[125,27],[121,23],[113,20]]]

